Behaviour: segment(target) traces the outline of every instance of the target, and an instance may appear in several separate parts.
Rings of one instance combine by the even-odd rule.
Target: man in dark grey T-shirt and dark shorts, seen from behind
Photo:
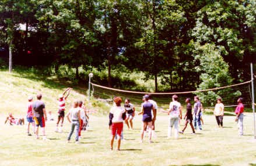
[[[38,128],[40,126],[43,130],[43,139],[47,140],[45,135],[45,121],[47,121],[47,113],[45,111],[45,105],[41,99],[42,95],[38,94],[37,101],[33,103],[33,117],[36,124],[36,138],[39,139]]]

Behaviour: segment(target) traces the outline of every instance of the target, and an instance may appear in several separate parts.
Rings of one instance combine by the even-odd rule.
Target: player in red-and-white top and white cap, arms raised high
[[[71,90],[72,90],[72,88],[67,88],[62,94],[59,94],[58,120],[57,120],[55,132],[62,132],[64,117],[65,117],[65,104],[66,104],[65,102],[66,102],[66,99],[68,98]],[[68,94],[65,96],[66,92],[68,92]],[[58,128],[59,121],[61,121],[61,128]]]

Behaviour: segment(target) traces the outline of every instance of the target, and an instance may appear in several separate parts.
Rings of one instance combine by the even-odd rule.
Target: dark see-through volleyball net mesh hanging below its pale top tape
[[[145,94],[151,94],[153,100],[157,102],[159,107],[167,109],[171,96],[178,95],[178,100],[182,104],[185,103],[186,98],[194,99],[194,96],[199,96],[202,104],[205,108],[212,109],[216,104],[216,99],[221,98],[225,107],[235,107],[237,105],[237,99],[243,98],[243,104],[245,106],[251,106],[252,94],[251,94],[251,81],[246,81],[240,84],[227,85],[222,87],[216,87],[211,89],[201,89],[198,91],[186,91],[186,92],[135,92],[125,91],[122,89],[108,88],[106,86],[92,84],[92,95],[96,100],[101,102],[111,103],[115,96],[120,96],[123,100],[128,98],[135,106],[141,106],[142,97]],[[192,102],[193,103],[193,102]]]

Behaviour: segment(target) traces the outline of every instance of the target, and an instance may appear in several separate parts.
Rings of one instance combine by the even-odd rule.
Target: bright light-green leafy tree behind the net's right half
[[[223,60],[220,55],[220,50],[216,49],[213,44],[205,44],[204,46],[198,46],[195,44],[197,55],[195,60],[198,60],[200,65],[196,67],[196,70],[201,73],[200,79],[202,80],[197,90],[211,89],[233,84],[233,78],[229,74],[229,66]],[[226,95],[229,93],[229,95]],[[234,98],[241,95],[240,91],[236,91],[233,88],[225,88],[220,91],[208,91],[196,93],[202,103],[207,106],[214,106],[216,99],[223,98],[224,103],[234,102]]]

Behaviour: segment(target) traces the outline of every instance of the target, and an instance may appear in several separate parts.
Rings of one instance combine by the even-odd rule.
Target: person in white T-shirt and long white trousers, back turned
[[[170,102],[169,107],[169,128],[168,128],[168,138],[171,137],[171,132],[174,127],[174,137],[178,138],[178,118],[182,119],[181,104],[178,102],[178,96],[173,95],[173,102]]]

